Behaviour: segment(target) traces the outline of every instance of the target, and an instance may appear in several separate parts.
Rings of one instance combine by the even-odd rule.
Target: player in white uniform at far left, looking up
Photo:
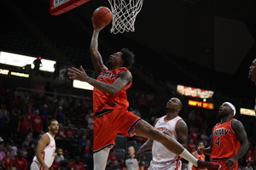
[[[31,170],[47,170],[55,159],[55,135],[59,130],[59,123],[49,120],[48,133],[39,139],[36,153],[31,164]]]

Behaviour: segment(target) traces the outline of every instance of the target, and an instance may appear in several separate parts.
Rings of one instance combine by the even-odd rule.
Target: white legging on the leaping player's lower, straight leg
[[[110,148],[104,148],[103,150],[93,153],[93,169],[94,170],[105,170],[108,161],[108,154]]]

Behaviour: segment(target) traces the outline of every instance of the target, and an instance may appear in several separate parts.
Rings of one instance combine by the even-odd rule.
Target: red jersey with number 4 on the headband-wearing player
[[[228,122],[217,123],[212,129],[212,159],[232,158],[240,148],[240,142],[236,139],[236,133],[231,124],[236,120],[230,119]]]

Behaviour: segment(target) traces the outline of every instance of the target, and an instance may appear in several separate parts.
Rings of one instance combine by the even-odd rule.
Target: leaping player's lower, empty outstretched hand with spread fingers
[[[67,72],[67,75],[70,79],[76,79],[83,82],[86,82],[88,79],[88,75],[84,71],[84,68],[82,65],[80,65],[80,69],[72,67],[72,68],[68,68],[67,71],[69,71]]]

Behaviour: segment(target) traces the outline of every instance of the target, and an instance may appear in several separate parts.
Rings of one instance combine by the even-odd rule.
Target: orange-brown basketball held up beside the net
[[[112,12],[107,7],[96,8],[92,14],[92,20],[97,26],[107,26],[112,17]]]

